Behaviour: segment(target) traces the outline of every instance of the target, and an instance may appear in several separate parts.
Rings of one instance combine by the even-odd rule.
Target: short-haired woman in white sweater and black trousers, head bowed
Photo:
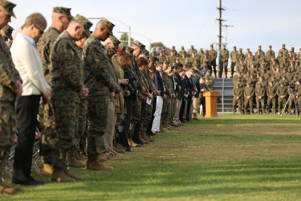
[[[37,114],[41,96],[46,103],[51,98],[50,86],[46,83],[42,62],[36,50],[39,39],[47,26],[39,13],[29,15],[22,33],[18,33],[11,45],[11,58],[22,79],[23,93],[17,100],[18,141],[15,150],[12,183],[42,185],[31,177],[33,143],[37,125]]]

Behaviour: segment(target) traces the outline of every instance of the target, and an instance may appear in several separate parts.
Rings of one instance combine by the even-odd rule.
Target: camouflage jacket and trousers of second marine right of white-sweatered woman
[[[80,103],[78,93],[83,88],[81,55],[74,39],[66,30],[54,42],[51,64],[51,102],[56,132],[52,165],[65,169],[68,165],[68,153],[76,149],[77,112]]]

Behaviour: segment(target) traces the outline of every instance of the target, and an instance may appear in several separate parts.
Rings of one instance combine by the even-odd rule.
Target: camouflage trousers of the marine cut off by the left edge
[[[0,101],[0,175],[15,142],[16,118],[15,102]]]

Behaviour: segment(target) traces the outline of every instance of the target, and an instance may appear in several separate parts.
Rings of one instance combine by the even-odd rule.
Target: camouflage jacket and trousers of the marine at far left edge
[[[11,53],[0,37],[0,174],[7,164],[11,146],[14,145],[16,134],[15,90],[17,80],[21,80],[14,68]]]

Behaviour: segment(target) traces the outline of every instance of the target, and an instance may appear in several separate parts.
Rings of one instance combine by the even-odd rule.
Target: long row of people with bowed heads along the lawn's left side
[[[42,14],[30,14],[12,37],[15,6],[0,0],[0,174],[18,131],[13,184],[44,184],[31,176],[37,126],[41,176],[75,182],[82,177],[69,167],[113,170],[103,162],[197,119],[200,104],[205,109],[211,71],[199,79],[199,71],[149,54],[137,40],[124,45],[105,18],[92,32],[70,8],[54,7],[47,31]],[[0,194],[17,191],[0,181]]]

